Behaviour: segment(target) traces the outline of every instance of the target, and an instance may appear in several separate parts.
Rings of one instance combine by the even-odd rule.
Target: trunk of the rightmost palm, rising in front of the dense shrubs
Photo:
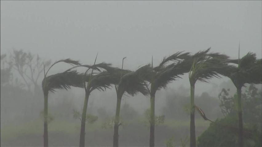
[[[243,119],[242,119],[242,102],[241,102],[241,87],[237,88],[237,101],[238,101],[238,146],[244,146],[243,138]]]

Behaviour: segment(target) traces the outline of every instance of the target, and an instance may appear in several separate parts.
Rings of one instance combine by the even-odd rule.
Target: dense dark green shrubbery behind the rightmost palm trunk
[[[219,95],[220,107],[225,117],[210,124],[198,137],[198,146],[238,146],[236,95],[229,96],[228,92],[229,89],[222,89]],[[261,146],[261,90],[258,91],[255,86],[250,85],[242,93],[242,98],[244,132],[246,132],[244,146]]]

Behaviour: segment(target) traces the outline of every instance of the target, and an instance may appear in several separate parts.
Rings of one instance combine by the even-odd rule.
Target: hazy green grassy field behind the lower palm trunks
[[[201,134],[209,122],[196,119],[196,135]],[[86,142],[88,146],[111,146],[113,129],[102,129],[102,121],[97,121],[86,126]],[[52,146],[77,146],[79,139],[80,122],[68,122],[54,119],[48,126],[50,145]],[[8,124],[1,127],[1,146],[38,146],[42,145],[43,122],[41,119],[30,120],[21,125]],[[120,127],[121,146],[146,146],[149,140],[149,128],[143,119],[125,122]],[[164,124],[156,126],[156,146],[165,146],[165,141],[177,136],[177,145],[180,138],[189,135],[189,120],[165,120]],[[64,141],[61,141],[64,140]],[[67,142],[68,141],[68,142]]]

